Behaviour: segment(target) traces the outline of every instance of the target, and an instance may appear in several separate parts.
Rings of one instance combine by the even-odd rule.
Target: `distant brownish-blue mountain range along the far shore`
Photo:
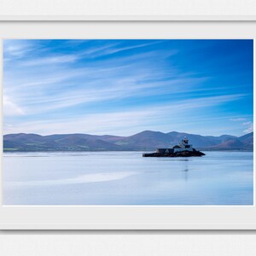
[[[253,150],[253,132],[241,137],[201,136],[184,132],[142,131],[129,137],[90,134],[8,134],[3,136],[4,152],[154,150],[170,148],[189,138],[194,148],[208,150]]]

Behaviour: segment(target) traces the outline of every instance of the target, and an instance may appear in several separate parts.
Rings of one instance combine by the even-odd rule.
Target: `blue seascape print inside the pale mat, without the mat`
[[[4,39],[3,205],[253,206],[253,39]]]

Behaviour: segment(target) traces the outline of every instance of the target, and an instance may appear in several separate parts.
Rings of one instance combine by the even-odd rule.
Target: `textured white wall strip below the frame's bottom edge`
[[[1,231],[4,256],[256,255],[254,231]]]

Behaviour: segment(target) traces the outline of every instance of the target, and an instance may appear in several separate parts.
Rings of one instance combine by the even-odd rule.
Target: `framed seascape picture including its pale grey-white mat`
[[[1,229],[255,229],[255,25],[0,22]]]

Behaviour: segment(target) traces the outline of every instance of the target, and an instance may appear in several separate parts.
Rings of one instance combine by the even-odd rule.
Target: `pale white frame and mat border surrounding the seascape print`
[[[255,38],[255,15],[4,15],[3,38]],[[8,21],[9,20],[9,21]],[[10,22],[10,20],[13,20]],[[16,20],[16,21],[15,21]],[[31,20],[19,22],[18,20]],[[63,22],[33,20],[69,20]],[[73,22],[71,20],[80,20]],[[90,20],[90,22],[82,21]],[[166,20],[103,22],[92,20]],[[169,20],[169,21],[168,21]],[[176,20],[176,21],[170,21]],[[183,20],[178,22],[177,20]],[[187,20],[187,21],[186,21]],[[189,22],[188,20],[208,20]],[[210,21],[210,20],[233,20]],[[236,20],[236,21],[234,21]],[[243,21],[238,21],[243,20]],[[246,21],[247,20],[247,21]],[[85,36],[84,36],[85,35]],[[3,44],[1,44],[2,50]],[[254,40],[255,49],[255,40]],[[1,80],[3,79],[1,60]],[[254,51],[255,66],[255,51]],[[255,86],[255,77],[254,77]],[[255,87],[254,87],[255,88]],[[254,90],[255,93],[255,90]],[[255,95],[254,95],[255,96]],[[255,109],[255,108],[254,108]],[[255,157],[255,155],[254,155]],[[255,161],[254,161],[255,165]],[[255,172],[255,166],[253,171]],[[255,173],[253,177],[255,184]],[[2,184],[1,184],[2,188]],[[2,194],[2,189],[0,189]],[[0,206],[1,230],[255,230],[253,206]],[[2,198],[2,196],[1,196]]]

